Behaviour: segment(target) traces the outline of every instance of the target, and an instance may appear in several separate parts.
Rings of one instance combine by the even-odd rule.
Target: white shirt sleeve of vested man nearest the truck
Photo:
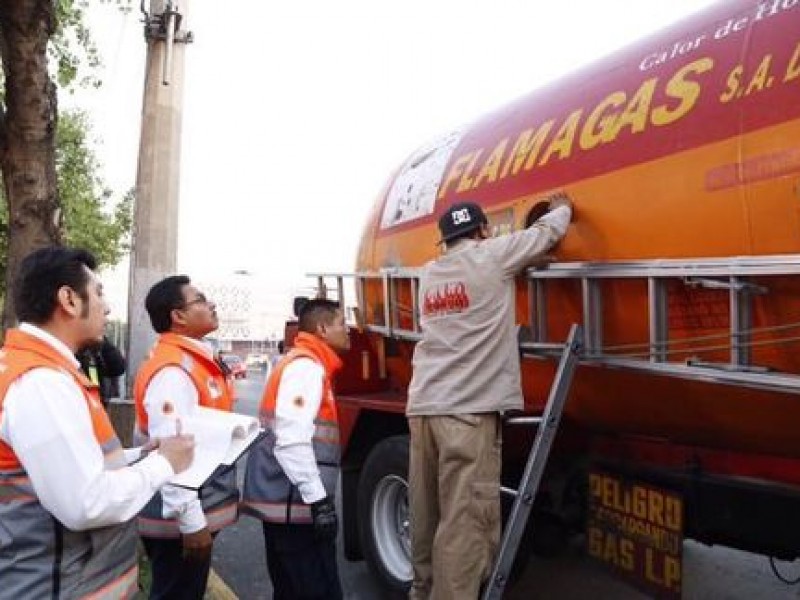
[[[296,358],[283,369],[275,401],[275,458],[306,504],[327,495],[312,445],[324,378],[321,365]]]

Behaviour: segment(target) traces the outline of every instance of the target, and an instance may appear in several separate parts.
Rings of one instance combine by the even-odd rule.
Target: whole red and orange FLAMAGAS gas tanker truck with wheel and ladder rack
[[[390,178],[355,273],[317,275],[358,324],[338,382],[347,556],[390,587],[411,577],[404,409],[416,270],[439,253],[439,215],[475,201],[500,235],[554,194],[575,220],[554,262],[517,281],[508,360],[522,360],[526,412],[541,412],[573,323],[584,340],[521,551],[583,534],[590,555],[667,596],[683,539],[797,558],[800,0],[714,5],[436,139]],[[510,487],[531,439],[506,432]]]

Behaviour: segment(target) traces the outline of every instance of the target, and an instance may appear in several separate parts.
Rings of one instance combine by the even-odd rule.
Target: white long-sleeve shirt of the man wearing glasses
[[[185,339],[213,358],[211,350],[203,342]],[[171,406],[164,410],[165,404]],[[158,371],[147,385],[144,395],[150,437],[175,435],[176,419],[190,415],[198,404],[197,388],[186,371],[175,366]],[[206,516],[196,491],[168,485],[161,490],[161,498],[163,516],[176,518],[181,533],[195,533],[206,527]]]

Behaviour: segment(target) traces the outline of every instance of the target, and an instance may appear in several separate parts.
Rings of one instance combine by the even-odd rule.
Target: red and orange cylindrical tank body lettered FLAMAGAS
[[[723,2],[421,148],[378,198],[357,269],[434,258],[437,218],[454,201],[480,203],[503,232],[558,191],[576,207],[559,262],[800,256],[800,3]],[[754,301],[752,325],[763,333],[751,364],[798,373],[800,277],[755,282],[768,291]],[[377,287],[367,288],[368,319],[382,310]],[[608,282],[603,293],[604,344],[646,344],[646,281]],[[522,324],[526,294],[521,284]],[[559,308],[548,331],[563,339],[581,320],[580,287],[559,282],[549,294]],[[670,335],[720,334],[728,303],[725,290],[670,282]],[[684,350],[670,360],[729,355],[709,343]],[[405,385],[407,360],[388,364]],[[523,372],[538,406],[552,369],[526,362]],[[798,400],[585,367],[567,415],[590,429],[798,457]]]

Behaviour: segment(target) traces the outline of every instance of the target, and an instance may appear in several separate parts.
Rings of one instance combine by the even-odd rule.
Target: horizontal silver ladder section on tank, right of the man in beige
[[[800,376],[754,364],[753,350],[768,345],[800,345],[800,322],[761,328],[753,323],[754,299],[769,294],[774,278],[799,275],[800,255],[553,263],[545,269],[530,269],[530,327],[528,339],[520,343],[520,349],[523,356],[531,357],[556,356],[560,352],[559,344],[548,341],[547,290],[559,280],[577,281],[581,286],[584,328],[581,364],[798,394]],[[647,306],[638,310],[646,312],[647,340],[617,346],[606,343],[604,289],[613,281],[646,284]],[[727,328],[694,338],[675,336],[669,318],[669,285],[726,293],[727,306],[721,316],[727,320]],[[792,330],[793,334],[788,333]],[[766,334],[781,337],[756,339]],[[709,352],[719,356],[723,351],[728,353],[726,361],[697,358]]]

